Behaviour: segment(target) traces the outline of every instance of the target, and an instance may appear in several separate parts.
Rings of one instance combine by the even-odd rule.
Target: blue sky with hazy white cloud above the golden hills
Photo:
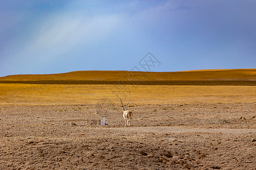
[[[256,1],[0,0],[0,76],[256,68]]]

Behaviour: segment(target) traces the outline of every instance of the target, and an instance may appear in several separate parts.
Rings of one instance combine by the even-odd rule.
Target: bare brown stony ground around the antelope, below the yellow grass
[[[0,105],[0,169],[255,169],[256,103]],[[101,118],[105,126],[100,126]]]

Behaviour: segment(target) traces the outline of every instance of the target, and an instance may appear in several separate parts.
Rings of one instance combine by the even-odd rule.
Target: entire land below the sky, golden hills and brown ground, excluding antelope
[[[5,76],[0,135],[0,169],[255,169],[256,69]]]

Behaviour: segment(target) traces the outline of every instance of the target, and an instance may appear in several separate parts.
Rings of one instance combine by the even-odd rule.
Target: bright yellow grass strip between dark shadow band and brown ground
[[[0,104],[85,104],[118,97],[136,104],[251,103],[255,86],[132,86],[108,84],[0,84]],[[125,96],[123,96],[125,95]]]

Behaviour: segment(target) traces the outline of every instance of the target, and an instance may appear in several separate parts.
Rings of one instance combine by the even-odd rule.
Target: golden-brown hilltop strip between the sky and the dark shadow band
[[[177,72],[73,71],[61,74],[8,75],[0,80],[256,80],[256,69]]]

